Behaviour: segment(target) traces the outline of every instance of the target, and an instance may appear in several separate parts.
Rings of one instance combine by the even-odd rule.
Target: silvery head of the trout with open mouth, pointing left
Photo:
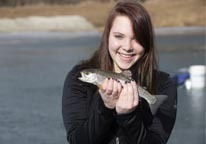
[[[91,84],[97,84],[97,74],[92,72],[92,70],[82,70],[80,74],[81,77],[79,77],[79,80]]]

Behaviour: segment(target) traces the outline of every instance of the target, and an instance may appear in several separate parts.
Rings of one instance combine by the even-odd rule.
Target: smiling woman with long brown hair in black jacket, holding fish
[[[80,71],[130,70],[131,82],[107,78],[98,89],[78,80]],[[155,115],[140,98],[137,83],[150,93],[167,95]],[[176,86],[157,70],[153,28],[148,12],[135,0],[119,1],[111,10],[94,55],[75,66],[63,90],[62,113],[70,144],[165,144],[176,117]]]

